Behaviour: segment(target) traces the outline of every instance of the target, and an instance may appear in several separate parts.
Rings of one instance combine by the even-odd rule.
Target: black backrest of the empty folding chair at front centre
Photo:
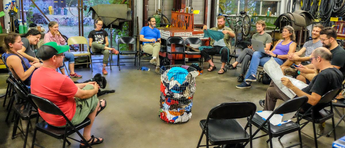
[[[255,114],[256,105],[252,102],[227,102],[213,107],[208,113],[208,119],[238,119]]]

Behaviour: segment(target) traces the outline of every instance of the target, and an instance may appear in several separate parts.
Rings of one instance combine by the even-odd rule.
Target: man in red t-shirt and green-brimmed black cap
[[[48,42],[40,47],[37,56],[43,60],[43,66],[33,73],[31,93],[43,97],[57,105],[73,125],[80,124],[88,117],[91,124],[84,128],[83,137],[90,145],[100,144],[102,138],[91,135],[91,127],[96,115],[105,108],[106,101],[97,99],[99,86],[96,82],[74,84],[66,75],[56,71],[63,62],[63,52],[68,45],[59,46]],[[66,120],[59,115],[52,115],[38,110],[40,116],[50,125],[66,126]],[[80,147],[84,147],[82,144]]]

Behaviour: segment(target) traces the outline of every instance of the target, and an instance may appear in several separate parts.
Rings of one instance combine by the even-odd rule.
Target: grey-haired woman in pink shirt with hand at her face
[[[66,40],[62,38],[62,35],[59,32],[59,24],[56,21],[51,21],[48,24],[48,32],[44,36],[44,42],[56,42],[58,45],[65,45]],[[80,78],[82,75],[78,75],[74,72],[74,55],[70,52],[64,52],[65,58],[68,60],[68,67],[70,70],[70,77]],[[61,73],[65,75],[65,66],[59,67]]]

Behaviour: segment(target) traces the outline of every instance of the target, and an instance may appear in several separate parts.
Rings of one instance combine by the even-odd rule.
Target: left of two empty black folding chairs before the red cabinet
[[[171,44],[175,44],[175,51],[171,51]],[[186,65],[185,41],[181,37],[170,36],[167,39],[166,46],[167,46],[167,56],[168,56],[168,54],[182,54],[182,58],[184,60],[183,65]]]

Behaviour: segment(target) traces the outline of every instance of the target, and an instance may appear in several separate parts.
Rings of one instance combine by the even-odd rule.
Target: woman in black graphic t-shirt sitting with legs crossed
[[[93,53],[102,53],[103,54],[103,68],[102,73],[108,74],[106,70],[106,66],[108,64],[109,59],[109,51],[111,51],[114,54],[118,54],[119,51],[117,51],[115,48],[108,47],[108,33],[102,29],[103,21],[102,19],[98,18],[95,20],[96,29],[92,30],[89,35],[89,46],[91,46],[91,51]]]

